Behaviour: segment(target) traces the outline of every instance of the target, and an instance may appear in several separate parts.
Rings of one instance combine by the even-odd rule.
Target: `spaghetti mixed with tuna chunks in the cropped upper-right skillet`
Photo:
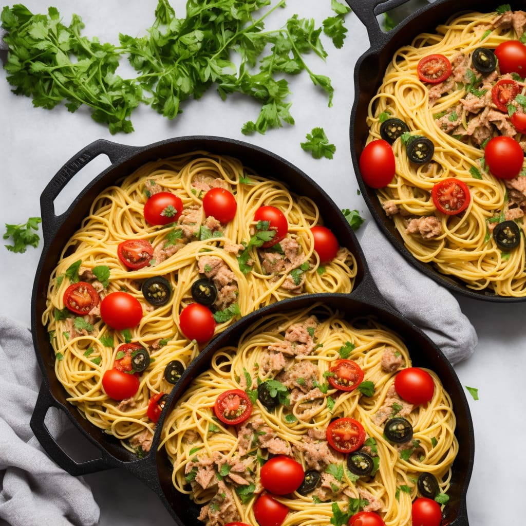
[[[491,57],[499,44],[519,39],[524,21],[520,11],[463,13],[439,25],[434,34],[418,35],[393,56],[368,111],[368,142],[385,137],[381,127],[387,119],[400,119],[409,129],[391,137],[396,175],[377,191],[407,249],[470,289],[510,297],[526,296],[524,170],[511,179],[496,177],[484,162],[484,147],[490,138],[503,135],[526,148],[512,117],[525,111],[526,84],[519,75],[502,74],[498,63],[497,69],[481,73],[473,56],[477,50],[477,55]],[[421,60],[430,57],[450,62],[446,80],[419,79]],[[502,80],[517,88],[504,107],[499,102],[503,92],[495,99],[494,89]],[[410,160],[408,148],[415,137],[432,140],[429,163]],[[468,195],[459,198],[469,201],[464,211],[458,201],[457,211],[448,208],[450,204],[441,209],[432,198],[433,188],[438,192],[437,185],[451,178],[459,181],[458,194],[466,193],[462,184],[467,186]],[[444,192],[451,188],[450,183]],[[513,249],[495,240],[495,226],[508,220],[519,227]]]

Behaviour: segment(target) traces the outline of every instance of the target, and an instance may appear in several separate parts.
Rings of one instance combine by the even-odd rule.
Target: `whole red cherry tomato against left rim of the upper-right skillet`
[[[371,188],[387,186],[395,177],[395,154],[387,140],[372,140],[360,155],[360,174]]]

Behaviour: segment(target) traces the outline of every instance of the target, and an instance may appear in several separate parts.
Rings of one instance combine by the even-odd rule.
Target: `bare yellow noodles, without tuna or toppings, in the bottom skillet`
[[[214,498],[218,492],[217,481],[214,484],[213,480],[207,489],[202,489],[197,483],[189,489],[187,464],[196,458],[212,458],[216,453],[219,460],[215,469],[219,470],[220,464],[232,458],[239,458],[241,433],[245,432],[240,431],[238,436],[241,424],[224,426],[214,417],[213,406],[216,398],[228,389],[245,389],[245,371],[251,375],[252,385],[249,388],[255,387],[256,377],[258,381],[275,378],[274,373],[262,373],[258,370],[264,360],[262,357],[268,352],[269,345],[284,339],[284,333],[289,326],[304,322],[313,312],[320,323],[315,330],[315,342],[320,345],[310,355],[296,357],[295,363],[300,360],[315,363],[319,369],[318,382],[322,385],[326,382],[323,373],[328,371],[330,362],[339,358],[339,349],[346,342],[350,342],[354,348],[349,358],[358,362],[365,372],[364,380],[374,383],[374,395],[366,397],[361,396],[358,390],[345,392],[329,388],[319,405],[319,410],[309,413],[308,418],[302,418],[301,411],[295,406],[280,405],[274,412],[269,412],[257,400],[248,422],[262,418],[277,437],[293,446],[309,429],[325,431],[331,419],[335,417],[355,418],[362,423],[367,436],[376,440],[379,469],[371,480],[367,480],[367,477],[355,480],[352,474],[344,469],[341,488],[346,492],[336,495],[335,500],[329,499],[314,505],[311,494],[302,496],[294,493],[292,497],[276,497],[290,510],[283,524],[329,526],[333,516],[332,502],[338,502],[340,510],[346,511],[348,497],[358,498],[358,489],[361,489],[380,500],[381,509],[378,513],[388,526],[410,525],[411,502],[417,496],[416,480],[420,473],[433,473],[439,481],[442,493],[446,493],[449,487],[450,468],[458,451],[457,439],[454,436],[456,419],[451,399],[442,388],[437,375],[429,370],[435,386],[433,398],[429,403],[413,408],[406,417],[414,429],[413,440],[420,442],[422,452],[418,458],[411,455],[408,460],[403,460],[397,448],[383,436],[383,424],[375,423],[373,416],[384,403],[396,375],[396,372],[387,373],[382,369],[382,353],[386,347],[392,347],[402,356],[403,367],[410,366],[411,359],[406,346],[395,333],[372,318],[350,322],[343,319],[338,312],[332,312],[320,304],[309,309],[267,316],[256,322],[243,333],[237,345],[218,350],[211,359],[210,369],[191,382],[175,408],[167,415],[161,435],[161,447],[165,448],[173,463],[174,486],[181,493],[191,494],[191,498],[198,504],[206,505]],[[329,399],[334,402],[332,409],[329,408]],[[297,417],[296,421],[286,419],[291,413]],[[265,451],[255,447],[247,456],[266,456]],[[336,451],[334,453],[339,465],[345,463],[344,454]],[[307,469],[304,454],[298,450],[294,454],[304,469]],[[254,466],[253,478],[256,488],[259,488],[256,492],[259,493],[260,464],[254,462]],[[231,484],[230,482],[230,488]],[[243,504],[236,491],[232,492],[232,496],[239,518],[230,516],[227,520],[219,512],[218,522],[239,520],[247,524],[257,524],[252,511],[254,499]]]

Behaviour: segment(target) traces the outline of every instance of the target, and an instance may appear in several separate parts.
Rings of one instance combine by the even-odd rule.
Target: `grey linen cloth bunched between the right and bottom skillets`
[[[382,296],[420,327],[451,363],[469,358],[478,342],[477,333],[451,292],[410,265],[373,220],[358,234]]]

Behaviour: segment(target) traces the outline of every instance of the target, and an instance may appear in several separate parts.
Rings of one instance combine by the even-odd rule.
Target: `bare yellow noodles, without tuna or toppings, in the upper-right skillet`
[[[526,296],[524,236],[521,235],[519,247],[503,254],[490,235],[489,220],[498,218],[508,207],[503,181],[481,166],[484,153],[476,143],[471,140],[466,143],[448,135],[435,122],[437,114],[450,112],[466,97],[469,82],[464,79],[451,93],[442,94],[430,104],[429,89],[434,85],[420,82],[417,75],[417,64],[424,56],[437,53],[452,60],[458,53],[471,55],[477,47],[494,49],[501,42],[521,36],[515,35],[513,29],[494,28],[495,16],[496,13],[457,15],[439,25],[436,34],[422,33],[411,45],[398,49],[378,93],[369,104],[368,141],[380,138],[380,120],[386,114],[408,124],[412,135],[423,135],[433,141],[434,163],[419,166],[409,162],[402,140],[397,139],[393,144],[396,176],[391,184],[378,190],[382,204],[390,201],[402,212],[393,215],[392,219],[411,254],[442,274],[461,279],[468,288],[488,288],[500,296],[523,297]],[[486,31],[490,33],[486,35]],[[468,67],[474,69],[471,59]],[[524,95],[524,83],[519,86]],[[467,127],[465,108],[461,119]],[[517,138],[523,140],[520,135]],[[473,169],[480,172],[480,179],[472,176],[470,170]],[[468,209],[457,216],[439,214],[442,234],[437,238],[426,240],[418,232],[407,233],[406,219],[435,213],[431,189],[438,180],[447,177],[457,177],[468,185],[471,194]],[[517,222],[524,233],[522,218]]]

